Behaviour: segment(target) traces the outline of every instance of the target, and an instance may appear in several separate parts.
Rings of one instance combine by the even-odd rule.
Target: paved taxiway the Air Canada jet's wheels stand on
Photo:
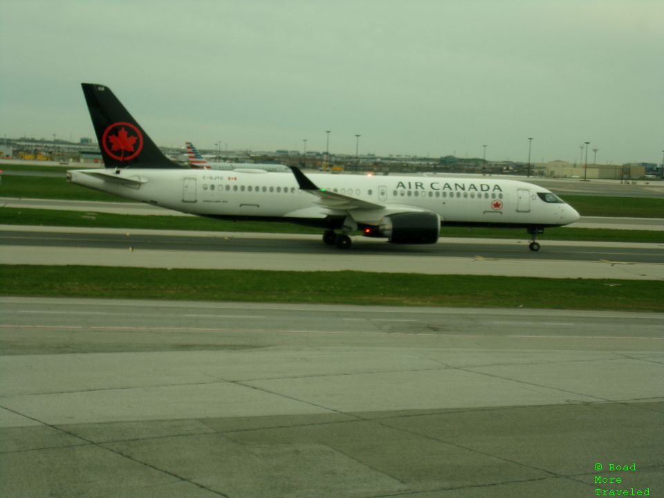
[[[649,243],[441,239],[398,246],[357,237],[353,248],[294,234],[0,225],[0,264],[336,271],[548,278],[664,279],[664,246]]]

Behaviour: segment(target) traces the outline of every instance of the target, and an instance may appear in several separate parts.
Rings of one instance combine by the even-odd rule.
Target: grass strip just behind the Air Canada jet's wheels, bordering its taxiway
[[[319,228],[293,223],[263,221],[224,221],[199,216],[136,216],[82,211],[0,208],[5,225],[42,225],[82,228],[122,228],[123,230],[202,230],[206,232],[262,232],[322,234]],[[518,228],[441,228],[441,237],[482,239],[530,239],[526,230]],[[605,228],[547,228],[540,240],[605,241],[664,243],[664,232],[656,230],[610,230]]]

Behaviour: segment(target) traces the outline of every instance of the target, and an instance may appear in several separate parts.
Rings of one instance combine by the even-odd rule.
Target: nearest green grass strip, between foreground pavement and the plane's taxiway
[[[0,278],[3,296],[664,311],[646,280],[32,265]]]

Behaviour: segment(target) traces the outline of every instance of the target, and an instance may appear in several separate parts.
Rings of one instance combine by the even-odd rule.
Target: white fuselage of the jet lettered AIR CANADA
[[[113,181],[113,177],[116,181]],[[363,222],[410,210],[439,214],[441,223],[558,226],[579,214],[563,202],[546,202],[548,190],[521,181],[487,177],[355,176],[307,174],[321,190],[382,206],[358,212]],[[324,220],[354,216],[349,210],[321,205],[300,190],[291,174],[200,169],[81,169],[69,172],[72,183],[118,196],[203,216]],[[123,179],[128,181],[122,182]],[[135,181],[135,183],[131,183]]]

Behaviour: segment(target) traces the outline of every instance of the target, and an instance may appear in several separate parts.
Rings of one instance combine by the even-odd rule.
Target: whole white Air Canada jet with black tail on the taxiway
[[[548,190],[495,178],[293,174],[261,169],[190,169],[166,158],[107,86],[84,83],[105,169],[77,169],[68,181],[102,192],[216,219],[291,221],[324,230],[347,249],[350,234],[391,243],[436,243],[441,225],[526,228],[537,234],[579,214]]]

